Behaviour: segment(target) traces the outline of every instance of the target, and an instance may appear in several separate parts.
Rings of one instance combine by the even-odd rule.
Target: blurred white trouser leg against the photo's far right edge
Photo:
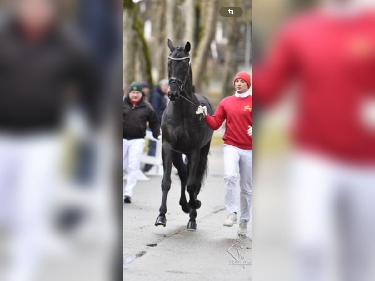
[[[343,277],[375,280],[375,167],[344,169],[344,208],[339,209]]]

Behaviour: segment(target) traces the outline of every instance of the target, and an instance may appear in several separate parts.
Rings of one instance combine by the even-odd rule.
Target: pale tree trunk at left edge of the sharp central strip
[[[128,87],[135,80],[136,33],[134,31],[134,3],[123,0],[123,85]]]

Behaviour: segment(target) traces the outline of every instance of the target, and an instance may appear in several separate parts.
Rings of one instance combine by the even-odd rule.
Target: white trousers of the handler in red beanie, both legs
[[[250,220],[250,207],[253,198],[253,151],[232,145],[224,145],[224,188],[225,208],[237,212],[236,183],[237,167],[240,167],[240,219]]]

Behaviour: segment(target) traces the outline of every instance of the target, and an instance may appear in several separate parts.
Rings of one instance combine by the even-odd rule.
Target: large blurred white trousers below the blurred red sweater
[[[301,153],[292,171],[294,280],[375,280],[375,167]]]

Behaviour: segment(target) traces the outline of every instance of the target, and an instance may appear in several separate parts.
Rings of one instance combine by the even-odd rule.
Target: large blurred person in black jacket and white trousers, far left
[[[74,103],[98,125],[101,76],[75,30],[63,26],[60,1],[8,4],[0,27],[0,228],[11,251],[1,277],[34,280],[62,183],[66,109]]]

